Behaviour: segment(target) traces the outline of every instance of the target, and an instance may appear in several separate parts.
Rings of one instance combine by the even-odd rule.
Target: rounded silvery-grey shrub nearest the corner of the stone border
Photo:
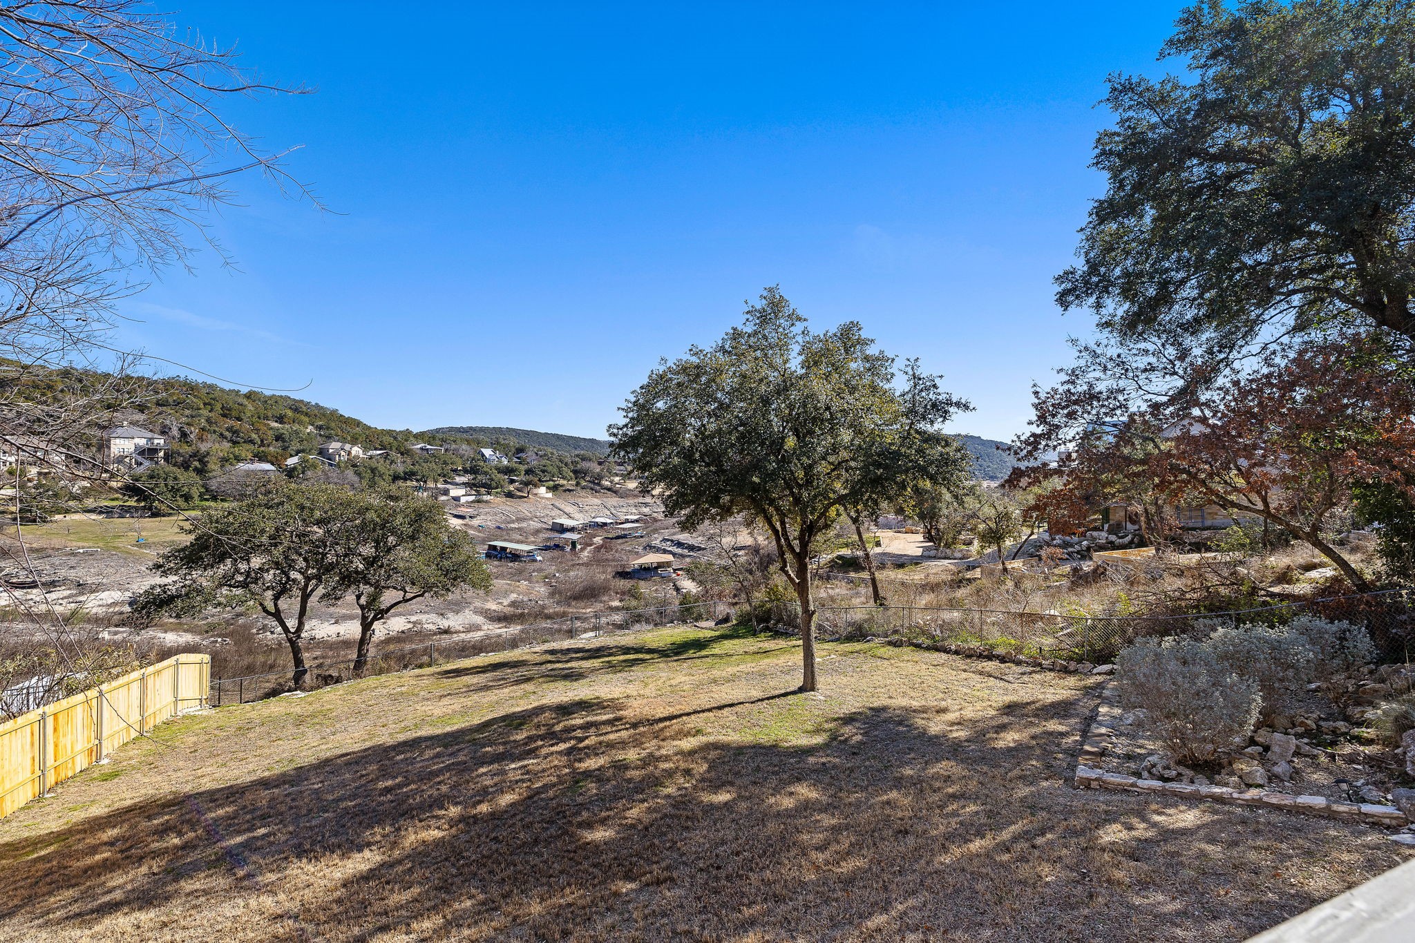
[[[1139,639],[1121,652],[1121,703],[1142,708],[1155,735],[1183,763],[1207,763],[1247,741],[1262,696],[1204,642]]]

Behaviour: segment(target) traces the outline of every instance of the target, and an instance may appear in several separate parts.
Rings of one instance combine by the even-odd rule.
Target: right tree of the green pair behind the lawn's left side
[[[491,573],[466,532],[447,523],[436,500],[406,488],[350,495],[354,523],[340,529],[338,574],[328,595],[351,594],[359,612],[354,673],[368,662],[379,622],[400,605],[463,588],[491,591]]]

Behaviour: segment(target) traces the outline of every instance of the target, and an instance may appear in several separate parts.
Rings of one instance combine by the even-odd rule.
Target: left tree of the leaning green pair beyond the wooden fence
[[[153,570],[166,582],[139,594],[139,616],[197,615],[255,605],[290,646],[293,681],[304,684],[310,604],[341,598],[347,530],[365,510],[337,485],[273,482],[185,526],[192,539],[164,551]]]

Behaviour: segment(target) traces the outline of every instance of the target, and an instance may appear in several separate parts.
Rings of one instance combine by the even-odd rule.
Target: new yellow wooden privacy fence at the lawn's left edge
[[[0,724],[0,817],[188,707],[204,707],[209,655],[166,662]]]

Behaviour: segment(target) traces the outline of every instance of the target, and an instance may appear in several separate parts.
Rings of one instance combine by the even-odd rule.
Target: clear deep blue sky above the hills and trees
[[[1067,359],[1051,277],[1101,178],[1107,72],[1180,3],[180,3],[266,78],[259,178],[122,341],[398,428],[603,435],[766,284],[855,318],[1010,438]],[[167,7],[171,8],[171,7]]]

